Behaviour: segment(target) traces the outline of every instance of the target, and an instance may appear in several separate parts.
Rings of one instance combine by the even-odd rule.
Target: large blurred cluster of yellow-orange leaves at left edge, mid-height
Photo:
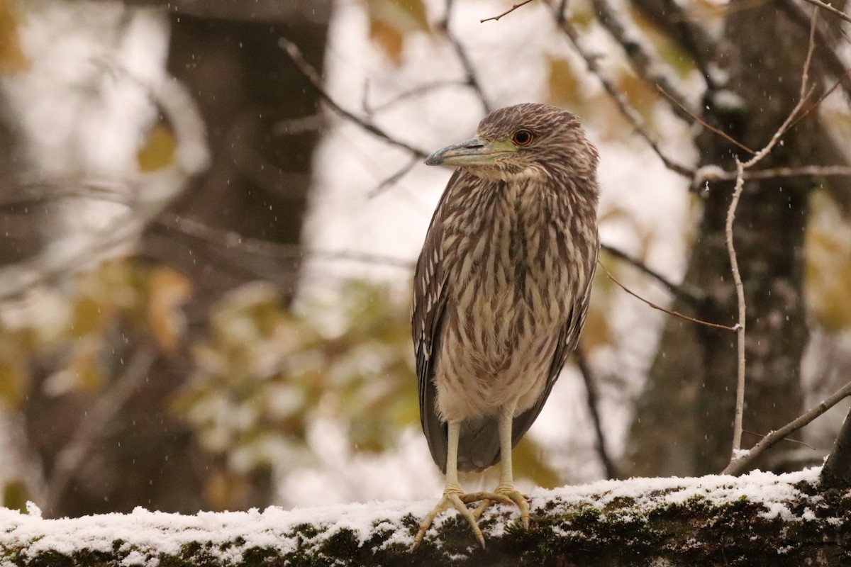
[[[7,307],[0,318],[0,402],[26,402],[35,360],[52,360],[42,388],[49,395],[95,392],[108,382],[107,334],[123,321],[174,348],[188,283],[173,269],[113,260],[78,275],[67,295],[50,292]]]

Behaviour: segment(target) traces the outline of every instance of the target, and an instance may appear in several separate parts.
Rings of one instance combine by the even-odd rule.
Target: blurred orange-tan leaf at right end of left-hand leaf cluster
[[[151,334],[163,350],[174,352],[186,327],[180,307],[189,298],[191,283],[177,270],[161,266],[151,274],[148,285]]]

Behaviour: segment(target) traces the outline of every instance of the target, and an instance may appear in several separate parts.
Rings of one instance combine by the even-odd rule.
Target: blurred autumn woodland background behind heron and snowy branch
[[[577,0],[563,24],[533,0],[480,21],[512,3],[0,0],[3,505],[439,495],[408,314],[450,172],[422,156],[503,105],[574,111],[602,156],[601,263],[732,325],[732,183],[695,170],[768,143],[809,45],[806,112],[737,216],[745,447],[846,381],[851,184],[825,166],[848,159],[847,25],[811,26],[799,0]],[[597,270],[581,355],[517,446],[518,486],[717,473],[734,343]],[[759,466],[820,463],[847,411]]]

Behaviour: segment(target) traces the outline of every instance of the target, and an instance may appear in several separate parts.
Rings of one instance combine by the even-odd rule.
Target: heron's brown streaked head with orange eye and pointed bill
[[[493,111],[474,138],[437,150],[426,165],[459,167],[486,179],[593,179],[597,150],[580,119],[551,105],[527,103]]]

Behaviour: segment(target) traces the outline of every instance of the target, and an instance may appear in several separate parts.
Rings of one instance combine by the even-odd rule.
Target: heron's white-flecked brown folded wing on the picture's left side
[[[446,471],[447,428],[437,416],[433,379],[440,351],[443,310],[446,307],[446,275],[443,266],[443,202],[460,173],[456,171],[443,190],[431,217],[426,242],[414,270],[414,303],[411,309],[411,334],[417,361],[417,384],[420,389],[420,422],[426,434],[431,457]]]

